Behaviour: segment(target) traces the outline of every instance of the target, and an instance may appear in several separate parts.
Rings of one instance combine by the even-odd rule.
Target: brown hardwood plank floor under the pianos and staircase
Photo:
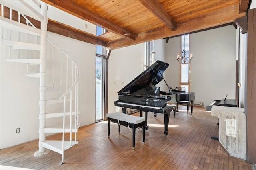
[[[186,106],[180,106],[175,118],[172,113],[170,115],[167,137],[164,137],[164,116],[158,114],[155,118],[154,114],[148,113],[145,144],[142,143],[142,129],[136,129],[134,150],[132,132],[127,127],[121,127],[118,134],[118,125],[112,123],[110,138],[107,137],[107,121],[81,127],[77,136],[79,144],[64,152],[63,165],[60,165],[61,155],[53,151],[34,157],[38,140],[1,149],[0,169],[252,170],[251,164],[230,156],[218,141],[211,139],[211,136],[218,136],[218,118],[205,110],[194,107],[191,115],[186,113]],[[47,139],[58,137],[61,134]]]

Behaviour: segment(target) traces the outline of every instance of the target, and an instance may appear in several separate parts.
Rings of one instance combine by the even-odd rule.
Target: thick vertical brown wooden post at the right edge
[[[245,78],[246,161],[256,164],[256,8],[248,10]]]

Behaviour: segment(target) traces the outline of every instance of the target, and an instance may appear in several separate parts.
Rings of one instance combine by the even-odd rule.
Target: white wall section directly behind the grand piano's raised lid
[[[118,91],[143,72],[143,43],[111,51],[108,66],[108,113],[120,111],[114,106]]]

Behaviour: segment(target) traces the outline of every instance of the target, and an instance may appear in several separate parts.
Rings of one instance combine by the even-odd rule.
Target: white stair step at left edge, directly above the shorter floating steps
[[[3,44],[10,45],[13,49],[23,49],[23,50],[40,50],[40,44],[24,43],[19,41],[11,41],[7,39],[0,39]]]

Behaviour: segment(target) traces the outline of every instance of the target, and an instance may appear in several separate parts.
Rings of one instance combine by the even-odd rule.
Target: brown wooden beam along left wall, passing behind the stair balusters
[[[6,8],[4,10],[4,17],[9,18],[10,10],[7,7],[4,7],[4,8]],[[35,27],[37,28],[41,27],[40,21],[30,18],[28,16],[26,17],[33,23]],[[18,12],[14,10],[12,10],[12,20],[18,21]],[[20,18],[20,22],[26,24],[26,20],[23,17]],[[48,19],[47,31],[50,31],[52,33],[57,33],[59,35],[63,35],[73,39],[77,39],[80,41],[84,41],[86,43],[108,47],[108,42],[99,39],[96,35],[84,32],[80,29],[76,29],[74,27],[65,25],[63,23],[60,23],[54,20]]]

